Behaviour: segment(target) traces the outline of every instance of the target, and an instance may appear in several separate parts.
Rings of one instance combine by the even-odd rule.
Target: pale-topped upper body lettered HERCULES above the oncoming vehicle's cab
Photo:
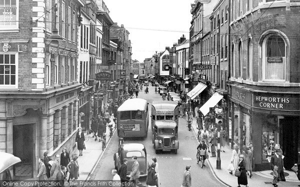
[[[151,129],[156,120],[174,120],[178,125],[179,106],[175,101],[153,101],[151,107]]]

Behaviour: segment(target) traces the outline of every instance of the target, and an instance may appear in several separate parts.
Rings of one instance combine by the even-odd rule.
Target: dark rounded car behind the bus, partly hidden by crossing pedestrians
[[[127,175],[130,175],[133,165],[133,161],[131,159],[132,156],[137,157],[137,162],[139,164],[139,177],[147,176],[149,163],[147,161],[146,149],[142,144],[119,145],[118,152],[113,155],[114,168],[118,171],[123,164],[123,159],[127,159]]]

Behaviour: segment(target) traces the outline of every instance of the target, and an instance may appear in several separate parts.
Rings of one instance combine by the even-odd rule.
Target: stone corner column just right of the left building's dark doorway
[[[39,157],[43,156],[43,153],[47,151],[47,123],[48,116],[43,115],[40,118],[40,127],[39,127],[39,133],[37,135],[38,143],[39,143]]]

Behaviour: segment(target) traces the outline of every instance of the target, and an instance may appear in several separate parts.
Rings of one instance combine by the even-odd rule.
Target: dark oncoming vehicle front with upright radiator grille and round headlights
[[[178,125],[174,120],[156,120],[153,127],[152,143],[155,153],[160,150],[177,154],[179,149]]]

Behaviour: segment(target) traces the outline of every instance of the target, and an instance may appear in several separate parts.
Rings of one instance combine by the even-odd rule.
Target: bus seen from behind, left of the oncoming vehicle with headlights
[[[147,137],[148,103],[144,99],[127,99],[116,112],[117,129],[122,126],[127,137]]]

